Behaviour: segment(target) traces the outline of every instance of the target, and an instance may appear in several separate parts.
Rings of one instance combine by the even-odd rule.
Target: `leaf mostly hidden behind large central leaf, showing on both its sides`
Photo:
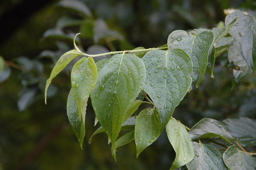
[[[132,131],[135,128],[135,123],[136,123],[136,119],[134,116],[129,117],[123,124],[121,127],[120,131]],[[93,138],[94,135],[97,135],[98,133],[104,132],[104,129],[101,127],[99,127],[94,133],[93,135],[91,135],[90,139],[89,139],[89,143],[91,143],[91,139]]]

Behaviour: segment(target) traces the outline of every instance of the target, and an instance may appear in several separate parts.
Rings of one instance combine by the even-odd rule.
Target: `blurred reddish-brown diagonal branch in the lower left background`
[[[61,124],[57,125],[52,131],[46,134],[41,141],[35,146],[35,148],[27,155],[27,157],[22,160],[20,165],[16,170],[24,170],[26,166],[29,165],[36,156],[38,156],[44,148],[52,141],[56,136],[58,136],[64,129],[67,127],[67,122],[62,122]]]

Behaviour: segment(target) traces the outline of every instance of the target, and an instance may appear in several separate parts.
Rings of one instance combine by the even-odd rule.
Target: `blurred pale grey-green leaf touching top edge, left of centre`
[[[72,10],[75,10],[77,12],[80,12],[84,16],[91,16],[90,9],[82,2],[78,0],[62,0],[59,2],[60,6],[65,8],[70,8]]]

